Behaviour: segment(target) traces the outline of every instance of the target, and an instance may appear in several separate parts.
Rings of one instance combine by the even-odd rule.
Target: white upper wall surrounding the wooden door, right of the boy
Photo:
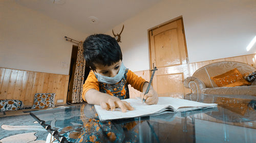
[[[148,70],[147,30],[181,15],[189,63],[256,53],[256,44],[246,51],[256,36],[255,0],[163,0],[114,27],[117,33],[124,24],[120,46],[126,67]]]

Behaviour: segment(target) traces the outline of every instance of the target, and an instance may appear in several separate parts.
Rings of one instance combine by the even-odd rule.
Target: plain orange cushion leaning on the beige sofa
[[[250,85],[250,82],[243,78],[243,75],[238,71],[237,68],[211,77],[211,80],[214,80],[218,87],[237,87],[242,85]]]

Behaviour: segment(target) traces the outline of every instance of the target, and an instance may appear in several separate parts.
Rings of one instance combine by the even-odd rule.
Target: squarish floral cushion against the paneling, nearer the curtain
[[[32,109],[54,107],[55,93],[36,93]]]

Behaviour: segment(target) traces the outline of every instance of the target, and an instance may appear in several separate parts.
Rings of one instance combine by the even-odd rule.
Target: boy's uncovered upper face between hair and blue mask
[[[120,69],[120,66],[122,64],[122,61],[120,60],[119,62],[113,63],[110,66],[103,66],[101,64],[94,64],[95,66],[95,71],[103,76],[108,76],[108,77],[115,77]]]

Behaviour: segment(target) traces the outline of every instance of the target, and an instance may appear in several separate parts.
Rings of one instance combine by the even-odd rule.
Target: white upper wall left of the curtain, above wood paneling
[[[69,74],[73,43],[87,35],[50,17],[0,1],[0,67]]]

